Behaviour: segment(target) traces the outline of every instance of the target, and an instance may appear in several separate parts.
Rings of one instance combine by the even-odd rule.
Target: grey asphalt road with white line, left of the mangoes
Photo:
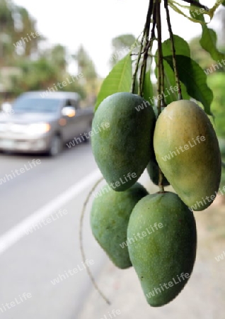
[[[83,201],[100,177],[91,145],[76,145],[54,159],[1,154],[0,167],[0,318],[76,318],[92,287],[86,267],[96,275],[106,259],[88,214],[88,266],[79,250]]]

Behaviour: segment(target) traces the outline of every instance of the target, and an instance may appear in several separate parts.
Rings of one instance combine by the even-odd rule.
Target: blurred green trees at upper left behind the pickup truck
[[[42,40],[45,38],[37,32],[36,21],[23,6],[16,6],[11,0],[0,0],[1,87],[6,91],[13,90],[14,94],[56,87],[56,90],[77,91],[85,97],[79,79],[67,72],[66,48],[57,44],[50,50],[40,50]],[[85,56],[82,72],[87,80],[94,79],[97,77],[95,67],[83,50]],[[57,86],[67,78],[66,86]]]

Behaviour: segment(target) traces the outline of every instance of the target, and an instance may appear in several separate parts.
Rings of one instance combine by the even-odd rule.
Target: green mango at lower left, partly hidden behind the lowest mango
[[[131,267],[127,250],[127,225],[132,209],[149,193],[135,183],[127,191],[113,191],[103,186],[91,208],[91,230],[99,245],[119,268]]]

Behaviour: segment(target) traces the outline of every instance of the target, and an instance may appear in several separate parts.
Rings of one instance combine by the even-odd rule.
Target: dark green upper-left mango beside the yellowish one
[[[98,106],[91,145],[100,172],[115,191],[129,189],[154,156],[155,122],[149,102],[136,94],[116,93]]]

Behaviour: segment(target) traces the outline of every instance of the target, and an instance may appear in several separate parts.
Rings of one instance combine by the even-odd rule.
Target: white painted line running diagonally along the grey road
[[[18,240],[21,240],[21,238],[26,235],[25,230],[28,230],[28,228],[35,223],[39,223],[40,220],[47,218],[47,216],[50,216],[51,213],[57,211],[59,207],[70,201],[74,196],[79,195],[81,191],[91,186],[91,184],[101,176],[100,171],[96,169],[96,171],[81,179],[81,181],[71,186],[67,191],[57,196],[57,198],[52,199],[52,201],[42,206],[42,208],[35,211],[35,213],[23,219],[21,223],[18,223],[18,225],[11,228],[11,230],[8,230],[4,235],[1,235],[0,254],[18,242]]]

